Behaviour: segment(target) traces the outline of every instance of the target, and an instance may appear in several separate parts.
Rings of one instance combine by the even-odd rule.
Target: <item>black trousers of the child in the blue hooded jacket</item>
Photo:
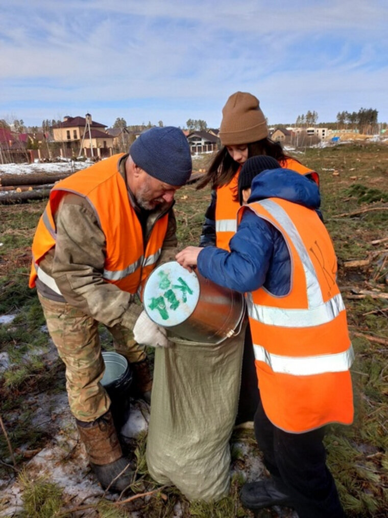
[[[326,467],[324,428],[289,434],[274,426],[261,401],[255,414],[255,435],[264,464],[280,490],[291,496],[299,518],[342,518],[332,474]]]

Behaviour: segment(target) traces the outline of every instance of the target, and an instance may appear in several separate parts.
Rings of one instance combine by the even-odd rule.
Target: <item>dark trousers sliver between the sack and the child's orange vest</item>
[[[243,366],[241,372],[240,396],[235,424],[253,421],[259,404],[258,383],[253,354],[252,337],[249,322],[245,332]]]

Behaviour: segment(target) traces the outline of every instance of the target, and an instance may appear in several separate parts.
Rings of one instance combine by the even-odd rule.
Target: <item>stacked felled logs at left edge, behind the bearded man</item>
[[[31,173],[26,175],[0,175],[0,204],[23,203],[31,199],[49,197],[55,182],[71,175]]]

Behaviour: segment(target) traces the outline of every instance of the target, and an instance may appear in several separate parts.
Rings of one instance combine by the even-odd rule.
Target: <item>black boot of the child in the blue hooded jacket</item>
[[[240,497],[243,506],[252,510],[271,506],[292,507],[290,496],[281,491],[272,478],[258,482],[247,482],[242,487]]]

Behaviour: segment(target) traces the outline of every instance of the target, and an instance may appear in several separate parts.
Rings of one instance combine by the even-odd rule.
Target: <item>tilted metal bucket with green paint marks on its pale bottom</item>
[[[237,334],[244,297],[189,272],[176,261],[152,271],[143,292],[147,315],[171,334],[202,343],[220,343]]]

